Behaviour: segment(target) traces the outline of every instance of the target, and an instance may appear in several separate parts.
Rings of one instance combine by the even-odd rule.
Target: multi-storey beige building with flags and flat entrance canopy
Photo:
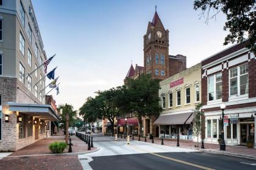
[[[48,121],[59,120],[45,104],[47,59],[30,0],[0,1],[0,151],[16,151],[46,137]]]

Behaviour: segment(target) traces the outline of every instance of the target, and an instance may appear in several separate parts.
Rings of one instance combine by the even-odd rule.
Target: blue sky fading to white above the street
[[[121,86],[131,62],[143,66],[143,36],[155,5],[169,30],[169,55],[187,56],[187,67],[230,46],[223,46],[226,17],[219,13],[205,24],[193,1],[32,0],[32,4],[44,50],[48,58],[56,53],[48,70],[58,66],[60,94],[54,90],[50,94],[57,105],[72,104],[76,110],[94,92]]]

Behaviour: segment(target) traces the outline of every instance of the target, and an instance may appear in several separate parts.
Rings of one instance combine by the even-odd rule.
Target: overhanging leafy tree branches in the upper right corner
[[[247,47],[251,52],[256,54],[256,1],[255,0],[196,0],[194,1],[194,9],[201,9],[202,16],[206,15],[206,23],[208,19],[216,18],[219,12],[223,12],[227,16],[227,22],[224,30],[229,30],[224,45],[230,42],[244,42],[245,36],[248,37],[249,43]],[[215,13],[210,15],[211,11]]]

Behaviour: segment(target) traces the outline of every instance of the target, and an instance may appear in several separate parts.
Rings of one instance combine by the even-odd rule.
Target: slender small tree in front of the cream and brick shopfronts
[[[196,104],[195,110],[193,111],[193,134],[197,137],[197,146],[199,144],[199,135],[201,135],[202,132],[202,115],[204,115],[204,112],[202,109],[202,103]]]

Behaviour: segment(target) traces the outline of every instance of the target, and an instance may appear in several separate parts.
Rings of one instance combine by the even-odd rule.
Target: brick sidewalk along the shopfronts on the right
[[[140,138],[141,142],[144,142],[145,138]],[[132,138],[130,138],[132,140]],[[134,137],[134,140],[138,140],[138,137]],[[147,142],[151,143],[152,140],[147,138]],[[161,140],[159,138],[154,138],[155,144],[161,144]],[[163,143],[166,146],[177,147],[177,139],[170,139],[164,138]],[[223,154],[223,155],[232,155],[237,157],[246,157],[246,158],[254,158],[256,159],[256,148],[247,148],[246,146],[228,146],[226,145],[226,151],[219,151],[219,144],[212,144],[212,143],[204,143],[204,148],[201,149],[201,143],[199,143],[199,148],[196,148],[196,142],[187,141],[187,140],[179,140],[180,148],[187,148],[187,149],[196,149],[205,151],[212,154]]]

